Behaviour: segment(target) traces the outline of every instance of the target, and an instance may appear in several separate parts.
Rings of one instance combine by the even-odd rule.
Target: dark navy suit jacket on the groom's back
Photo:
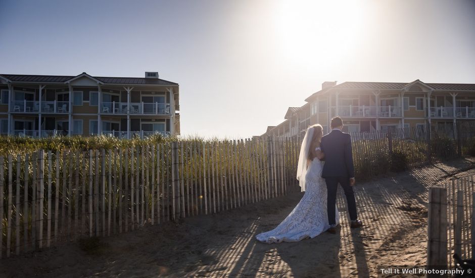
[[[332,130],[321,138],[320,148],[325,154],[322,177],[355,176],[350,134]]]

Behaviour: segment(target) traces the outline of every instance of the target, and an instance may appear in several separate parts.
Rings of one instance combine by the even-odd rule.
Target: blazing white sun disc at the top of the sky
[[[322,66],[351,55],[364,28],[357,1],[276,2],[275,32],[282,57],[294,63]]]

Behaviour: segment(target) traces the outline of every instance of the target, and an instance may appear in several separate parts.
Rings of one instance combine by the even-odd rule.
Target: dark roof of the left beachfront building
[[[87,75],[83,72],[76,76],[70,75],[25,75],[25,74],[0,74],[0,76],[11,82],[38,82],[38,83],[66,83],[69,80],[80,75]],[[178,85],[178,83],[159,79],[145,77],[106,77],[91,76],[105,84],[137,84],[137,85]]]

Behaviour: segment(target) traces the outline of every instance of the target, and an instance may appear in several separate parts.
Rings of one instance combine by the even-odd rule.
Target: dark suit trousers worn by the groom
[[[326,189],[327,189],[327,212],[328,212],[328,224],[335,225],[335,205],[337,203],[337,188],[338,183],[341,184],[343,191],[345,192],[346,201],[348,204],[348,211],[350,213],[350,219],[358,219],[356,213],[356,201],[355,194],[353,193],[353,187],[350,186],[349,177],[325,177]]]

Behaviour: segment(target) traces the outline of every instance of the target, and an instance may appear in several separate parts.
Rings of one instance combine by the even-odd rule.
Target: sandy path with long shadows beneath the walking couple
[[[376,276],[377,265],[424,264],[427,187],[475,173],[473,160],[440,163],[355,188],[365,227],[350,230],[343,196],[337,235],[298,243],[262,244],[257,233],[275,227],[300,201],[290,194],[247,207],[146,226],[100,239],[0,261],[1,277],[353,277]]]

